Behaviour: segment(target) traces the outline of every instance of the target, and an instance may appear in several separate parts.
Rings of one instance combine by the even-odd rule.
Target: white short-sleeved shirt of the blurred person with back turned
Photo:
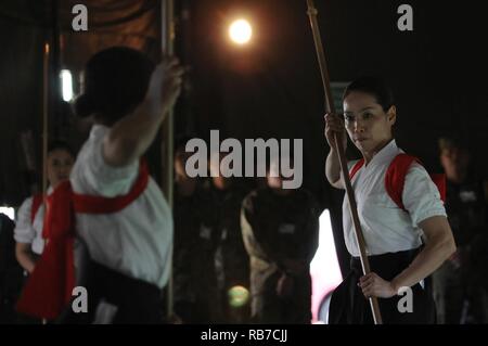
[[[112,167],[104,162],[103,139],[107,131],[105,126],[93,126],[79,152],[70,175],[76,193],[121,196],[131,190],[138,178],[138,162],[127,167]],[[152,178],[144,192],[120,212],[77,213],[76,229],[94,261],[159,287],[167,283],[172,216]]]

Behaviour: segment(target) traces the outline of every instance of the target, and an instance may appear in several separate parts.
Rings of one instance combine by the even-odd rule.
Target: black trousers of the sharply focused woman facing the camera
[[[403,271],[420,249],[388,253],[369,256],[371,271],[382,279],[391,281]],[[361,261],[351,258],[351,270],[332,294],[329,309],[330,324],[372,324],[373,316],[369,300],[357,284],[362,277]],[[377,298],[384,324],[432,324],[436,322],[436,309],[432,297],[429,279],[422,287],[419,283],[412,286],[412,311],[401,312],[398,303],[406,296],[396,295],[390,298]],[[400,303],[400,305],[402,305]]]

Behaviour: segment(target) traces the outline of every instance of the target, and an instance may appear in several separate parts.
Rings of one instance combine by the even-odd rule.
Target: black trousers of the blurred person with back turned
[[[90,260],[84,285],[88,292],[88,312],[75,313],[67,307],[56,323],[92,323],[99,304],[117,307],[113,324],[159,324],[164,322],[162,290]]]

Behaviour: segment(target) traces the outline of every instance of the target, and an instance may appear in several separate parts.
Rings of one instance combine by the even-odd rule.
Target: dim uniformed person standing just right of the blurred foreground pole
[[[220,242],[218,215],[208,184],[188,177],[189,154],[179,148],[175,155],[175,312],[183,323],[221,323],[223,312],[215,268]]]

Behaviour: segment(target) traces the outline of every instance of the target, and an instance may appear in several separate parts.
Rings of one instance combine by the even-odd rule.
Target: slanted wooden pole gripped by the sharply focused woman
[[[311,29],[312,29],[312,34],[313,34],[313,41],[314,41],[316,51],[317,51],[317,59],[319,61],[323,89],[325,92],[325,112],[326,113],[335,113],[335,106],[334,106],[334,100],[333,100],[332,91],[331,91],[331,82],[330,82],[330,78],[329,78],[328,65],[326,65],[326,61],[325,61],[325,53],[324,53],[323,46],[322,46],[322,39],[320,37],[319,23],[317,22],[318,11],[317,11],[316,7],[313,5],[313,0],[307,0],[307,7],[308,7],[307,14],[310,18],[310,25],[311,25]],[[347,169],[346,154],[344,151],[344,146],[343,146],[341,137],[342,137],[341,134],[335,133],[334,141],[335,141],[335,145],[337,148],[341,171],[343,174],[343,180],[344,180],[344,184],[346,188],[346,195],[347,195],[347,200],[349,202],[349,212],[350,212],[350,215],[352,218],[352,223],[355,226],[355,234],[356,234],[356,241],[357,241],[358,247],[359,247],[359,255],[360,255],[360,259],[361,259],[362,271],[364,274],[368,274],[371,272],[371,269],[370,269],[370,262],[368,260],[368,255],[367,255],[367,251],[365,251],[367,244],[364,242],[364,236],[362,234],[361,223],[359,222],[358,207],[356,205],[355,192],[354,192],[352,185],[350,183],[349,171]],[[380,312],[380,306],[377,304],[377,298],[370,297],[369,300],[370,300],[370,305],[371,305],[371,311],[373,313],[374,323],[382,324],[383,321],[382,321],[382,316]]]

